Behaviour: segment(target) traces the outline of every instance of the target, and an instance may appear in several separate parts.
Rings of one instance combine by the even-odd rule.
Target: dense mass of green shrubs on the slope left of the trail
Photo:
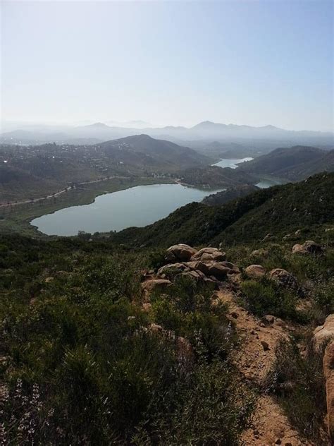
[[[142,253],[108,241],[1,243],[15,265],[0,270],[4,444],[237,444],[254,398],[211,291],[180,280],[147,313]]]

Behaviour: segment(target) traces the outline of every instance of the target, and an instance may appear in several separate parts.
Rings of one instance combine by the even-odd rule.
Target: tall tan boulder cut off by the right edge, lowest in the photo
[[[326,380],[326,401],[327,401],[327,419],[328,435],[330,445],[334,442],[334,342],[326,346],[323,355],[323,374]]]

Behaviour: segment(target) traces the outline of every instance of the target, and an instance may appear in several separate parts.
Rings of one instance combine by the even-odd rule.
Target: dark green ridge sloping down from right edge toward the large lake
[[[334,174],[322,173],[300,183],[262,189],[213,207],[190,203],[144,228],[111,234],[130,246],[191,246],[249,243],[268,233],[283,236],[301,227],[334,222]]]

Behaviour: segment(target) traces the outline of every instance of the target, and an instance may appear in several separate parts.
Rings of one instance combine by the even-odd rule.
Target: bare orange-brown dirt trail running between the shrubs
[[[230,291],[218,291],[216,295],[228,303],[229,317],[235,322],[242,342],[235,352],[234,361],[247,380],[258,384],[273,363],[279,340],[287,337],[287,326],[278,318],[273,318],[272,323],[261,323],[236,303]],[[242,440],[245,446],[315,446],[300,440],[275,399],[266,394],[259,397],[252,428],[245,432]]]

